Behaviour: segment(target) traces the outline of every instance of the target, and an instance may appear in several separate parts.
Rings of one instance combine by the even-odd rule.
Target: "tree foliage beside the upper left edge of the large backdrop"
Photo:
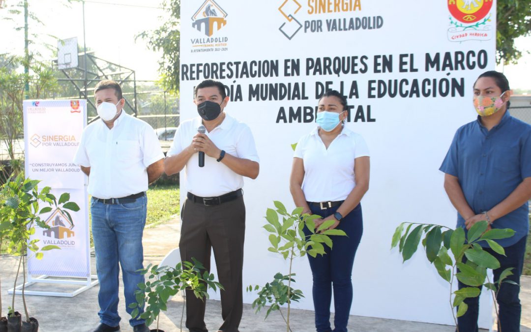
[[[166,16],[160,20],[164,23],[154,31],[144,31],[136,38],[147,40],[150,49],[162,51],[159,60],[160,83],[165,90],[173,93],[179,91],[179,61],[181,42],[181,0],[164,0],[162,2]]]

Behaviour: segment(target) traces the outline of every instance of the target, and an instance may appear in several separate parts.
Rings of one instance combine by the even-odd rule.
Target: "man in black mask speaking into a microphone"
[[[237,332],[243,311],[243,243],[245,205],[243,177],[256,178],[259,159],[249,127],[227,115],[229,97],[223,83],[205,80],[195,88],[194,103],[200,117],[179,125],[164,162],[171,175],[185,169],[187,199],[181,210],[181,259],[197,259],[210,270],[213,249],[221,291],[220,331]],[[198,133],[203,125],[205,133]],[[199,153],[204,152],[204,167]],[[186,293],[186,327],[208,331],[205,302]]]

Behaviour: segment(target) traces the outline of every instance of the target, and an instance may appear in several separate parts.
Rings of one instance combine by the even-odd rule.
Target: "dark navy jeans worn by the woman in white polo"
[[[311,206],[312,213],[326,218],[333,215],[337,207],[321,210]],[[334,331],[347,331],[350,305],[352,305],[352,266],[359,241],[363,234],[362,206],[359,204],[346,215],[337,229],[342,229],[347,236],[330,236],[332,249],[324,245],[326,254],[316,258],[308,256],[313,276],[313,305],[315,308],[315,328],[318,332],[332,331],[330,327],[330,303],[332,285],[334,297]],[[309,236],[309,229],[304,227],[304,234]]]

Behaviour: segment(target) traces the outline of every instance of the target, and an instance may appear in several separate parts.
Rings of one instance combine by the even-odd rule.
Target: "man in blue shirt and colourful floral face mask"
[[[470,229],[480,220],[489,228],[512,228],[515,235],[498,240],[506,256],[485,250],[500,261],[494,281],[512,267],[508,280],[519,284],[524,263],[531,199],[531,126],[509,114],[509,82],[495,71],[485,72],[474,84],[476,121],[460,127],[440,170],[444,189],[457,209],[457,226]],[[484,241],[482,241],[484,242]],[[459,288],[466,287],[459,283]],[[503,283],[497,296],[499,327],[520,330],[520,286]],[[465,300],[467,312],[458,318],[460,332],[477,331],[478,297]]]

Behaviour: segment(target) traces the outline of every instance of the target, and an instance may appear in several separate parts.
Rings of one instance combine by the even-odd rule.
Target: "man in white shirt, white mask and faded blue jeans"
[[[164,154],[155,131],[144,121],[123,111],[125,99],[118,83],[101,81],[95,89],[100,119],[83,130],[74,163],[89,176],[92,195],[92,237],[100,284],[100,325],[91,332],[120,329],[118,276],[122,267],[125,307],[136,302],[134,291],[144,282],[142,233],[148,184],[164,168]],[[134,332],[149,332],[145,320],[129,320]]]

